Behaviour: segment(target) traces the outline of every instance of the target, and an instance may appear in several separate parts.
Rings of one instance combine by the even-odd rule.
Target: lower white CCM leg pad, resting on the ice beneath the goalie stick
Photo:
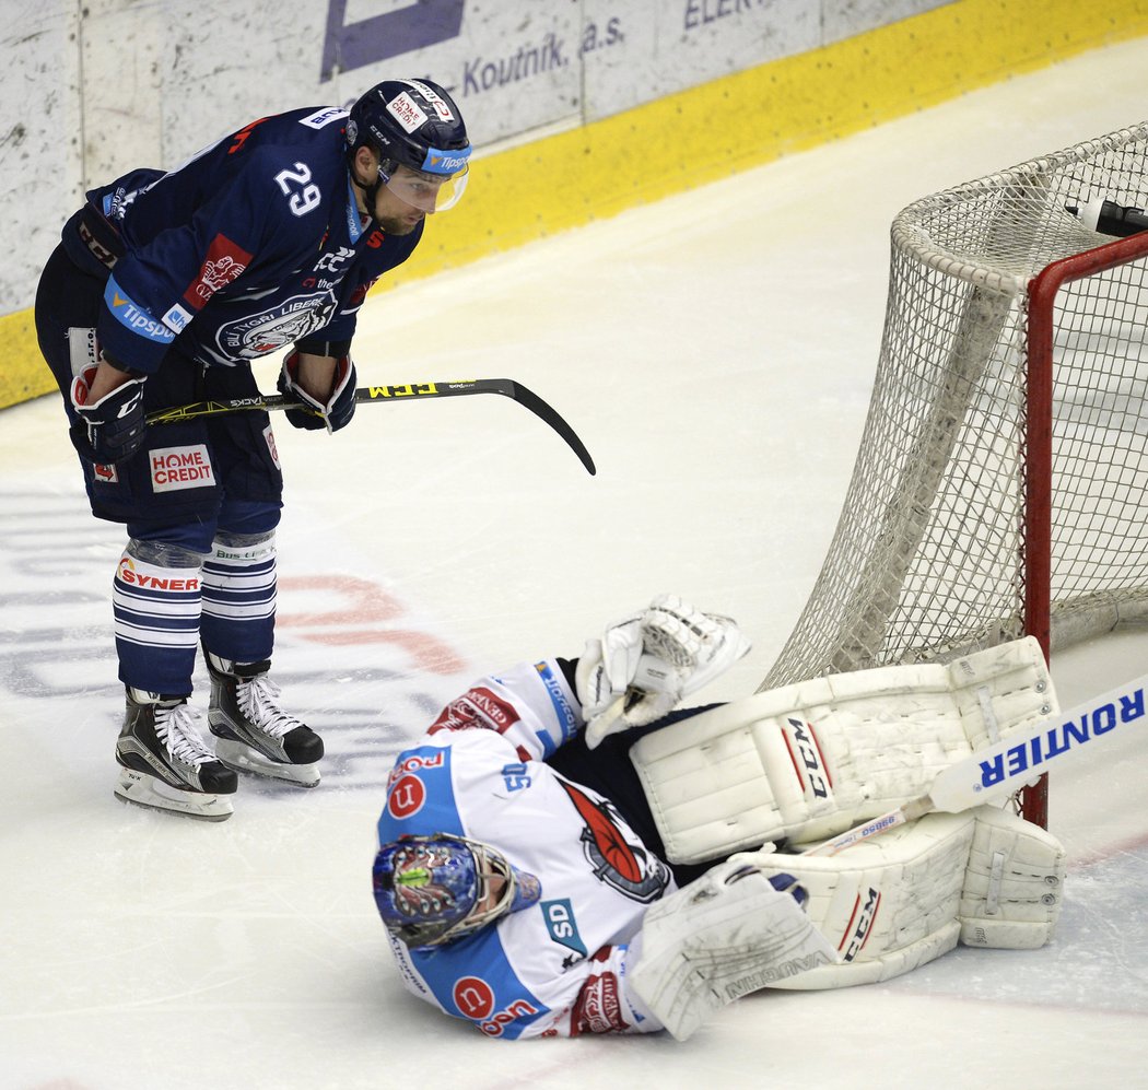
[[[792,874],[809,919],[837,965],[778,981],[823,989],[899,976],[967,945],[1033,949],[1061,910],[1064,850],[1011,812],[980,807],[931,813],[836,856],[761,857],[767,874]]]

